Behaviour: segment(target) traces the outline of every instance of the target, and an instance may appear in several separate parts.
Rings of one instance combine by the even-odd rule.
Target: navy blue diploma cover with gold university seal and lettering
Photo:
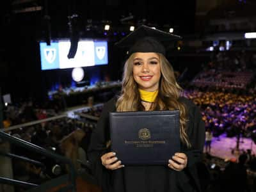
[[[109,113],[111,151],[122,164],[168,164],[180,152],[179,111]]]

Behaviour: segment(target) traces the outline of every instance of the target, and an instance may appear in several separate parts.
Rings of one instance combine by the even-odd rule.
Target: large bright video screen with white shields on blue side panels
[[[108,42],[80,40],[74,58],[68,59],[69,40],[58,40],[47,45],[40,42],[41,69],[87,67],[108,65]]]

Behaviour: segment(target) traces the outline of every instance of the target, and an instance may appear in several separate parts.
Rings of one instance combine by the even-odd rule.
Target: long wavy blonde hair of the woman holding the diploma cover
[[[160,60],[161,79],[159,82],[159,92],[152,110],[175,110],[180,111],[180,139],[187,147],[191,147],[188,134],[186,133],[187,109],[182,102],[179,102],[182,88],[175,79],[172,65],[163,56],[157,53]],[[138,84],[132,76],[134,54],[128,58],[124,65],[122,79],[122,92],[116,102],[116,111],[141,111],[143,105],[140,100]]]

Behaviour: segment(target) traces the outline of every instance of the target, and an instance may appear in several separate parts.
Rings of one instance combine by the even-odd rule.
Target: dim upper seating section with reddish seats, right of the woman
[[[255,76],[255,67],[256,55],[253,52],[218,52],[202,66],[191,85],[246,90]]]

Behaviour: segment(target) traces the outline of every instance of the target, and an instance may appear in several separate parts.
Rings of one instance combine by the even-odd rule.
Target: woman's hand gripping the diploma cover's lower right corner
[[[188,157],[184,153],[175,153],[172,159],[169,159],[168,167],[175,171],[182,171],[188,164]]]

